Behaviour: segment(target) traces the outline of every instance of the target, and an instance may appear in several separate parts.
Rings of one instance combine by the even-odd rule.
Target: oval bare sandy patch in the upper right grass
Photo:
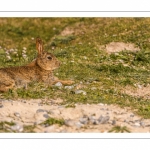
[[[115,53],[115,52],[120,52],[124,50],[136,52],[140,50],[134,44],[124,43],[124,42],[111,42],[105,46],[101,45],[99,49],[105,50],[107,53]]]

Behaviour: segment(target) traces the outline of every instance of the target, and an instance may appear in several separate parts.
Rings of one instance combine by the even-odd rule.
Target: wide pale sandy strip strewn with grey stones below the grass
[[[44,100],[45,101],[45,100]],[[134,114],[130,108],[120,108],[116,105],[75,104],[75,107],[66,107],[62,99],[46,100],[1,100],[0,131],[30,132],[28,128],[34,127],[33,132],[109,132],[113,127],[127,127],[130,132],[150,132],[150,120],[143,119]],[[62,126],[57,123],[42,124],[47,119],[63,119]],[[12,124],[14,122],[14,124]],[[9,125],[12,124],[12,125]],[[1,131],[2,132],[2,131]]]

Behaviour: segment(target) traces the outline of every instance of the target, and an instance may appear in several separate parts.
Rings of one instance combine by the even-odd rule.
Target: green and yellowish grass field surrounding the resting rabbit
[[[45,50],[61,61],[56,76],[75,81],[72,89],[31,83],[28,89],[10,90],[1,98],[62,98],[68,106],[118,104],[150,118],[149,99],[122,92],[126,86],[150,84],[149,18],[0,18],[0,22],[1,67],[31,62],[36,57],[35,38],[40,36]],[[108,54],[100,46],[110,42],[133,43],[140,51]],[[75,94],[78,85],[86,95]]]

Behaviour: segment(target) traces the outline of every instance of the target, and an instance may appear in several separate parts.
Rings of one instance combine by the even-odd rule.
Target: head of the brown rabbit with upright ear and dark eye
[[[43,43],[40,38],[36,38],[36,49],[38,51],[37,64],[44,70],[54,70],[60,66],[57,58],[43,50]]]

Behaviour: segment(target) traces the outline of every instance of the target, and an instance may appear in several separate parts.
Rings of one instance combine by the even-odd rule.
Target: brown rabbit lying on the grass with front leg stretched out
[[[6,92],[13,87],[26,86],[32,81],[44,82],[52,85],[57,82],[72,84],[70,80],[59,80],[53,76],[53,70],[60,66],[57,58],[43,50],[43,43],[40,38],[36,39],[38,56],[26,66],[0,68],[0,92]]]

